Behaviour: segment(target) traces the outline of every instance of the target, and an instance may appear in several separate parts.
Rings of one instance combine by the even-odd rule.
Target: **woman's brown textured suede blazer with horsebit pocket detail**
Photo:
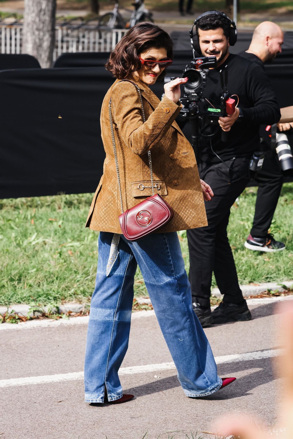
[[[174,210],[173,219],[158,232],[206,226],[194,151],[175,122],[181,106],[167,97],[160,101],[141,80],[136,77],[131,80],[141,90],[146,122],[142,121],[141,102],[134,84],[117,79],[107,91],[101,108],[101,137],[106,158],[86,227],[122,233],[118,220],[121,207],[108,108],[110,98],[123,209],[130,209],[152,195],[147,154],[150,150],[157,188],[155,193],[160,194]]]

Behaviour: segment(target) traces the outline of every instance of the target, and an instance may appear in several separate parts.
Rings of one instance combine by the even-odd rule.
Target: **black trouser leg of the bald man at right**
[[[258,190],[250,234],[262,238],[268,234],[283,184],[283,174],[276,154],[273,155],[271,151],[268,153],[254,180],[258,183]]]

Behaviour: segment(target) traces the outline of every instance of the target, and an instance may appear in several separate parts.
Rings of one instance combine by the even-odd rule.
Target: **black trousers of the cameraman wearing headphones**
[[[192,301],[201,306],[210,306],[213,272],[224,301],[243,301],[227,226],[231,206],[248,183],[249,162],[248,158],[233,158],[216,165],[199,165],[200,178],[214,193],[212,200],[205,202],[209,225],[187,230]]]

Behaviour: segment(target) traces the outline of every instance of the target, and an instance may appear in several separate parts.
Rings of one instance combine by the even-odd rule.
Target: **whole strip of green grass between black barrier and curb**
[[[286,243],[278,254],[243,247],[251,227],[257,188],[232,207],[228,227],[240,284],[293,279],[293,184],[285,184],[271,231]],[[89,301],[98,259],[98,233],[84,224],[92,194],[0,201],[0,304]],[[189,270],[186,233],[179,233]],[[213,286],[215,286],[213,279]],[[147,295],[141,273],[135,295]]]

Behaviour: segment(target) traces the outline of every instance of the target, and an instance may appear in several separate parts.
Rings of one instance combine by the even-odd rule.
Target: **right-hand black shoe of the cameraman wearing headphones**
[[[219,306],[211,313],[213,324],[227,322],[244,322],[251,320],[250,310],[246,300],[236,305],[235,303],[221,302]]]

